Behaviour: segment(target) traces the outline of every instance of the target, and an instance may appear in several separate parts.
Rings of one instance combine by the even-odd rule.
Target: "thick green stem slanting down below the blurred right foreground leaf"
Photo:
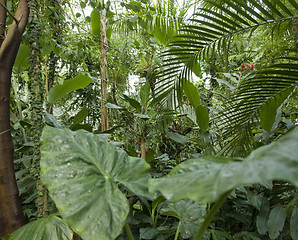
[[[223,205],[223,203],[226,201],[226,199],[228,198],[228,196],[231,194],[232,191],[233,190],[230,190],[230,191],[224,193],[223,195],[221,195],[221,197],[218,199],[218,201],[215,202],[215,204],[213,205],[211,210],[208,212],[207,217],[205,218],[203,224],[201,225],[195,240],[201,240],[202,239],[205,230],[207,229],[207,227],[209,226],[209,224],[213,220],[215,214],[218,212],[218,210]]]

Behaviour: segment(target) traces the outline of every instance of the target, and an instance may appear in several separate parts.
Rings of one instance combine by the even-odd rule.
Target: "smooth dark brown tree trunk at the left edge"
[[[0,238],[24,224],[13,166],[13,142],[10,134],[10,86],[12,67],[27,24],[29,8],[20,0],[5,36],[6,0],[0,0]]]

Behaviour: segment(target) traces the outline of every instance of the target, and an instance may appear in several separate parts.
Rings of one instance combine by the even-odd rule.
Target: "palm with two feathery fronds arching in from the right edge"
[[[169,50],[164,52],[164,64],[156,83],[157,96],[169,89],[176,89],[181,101],[185,83],[192,78],[192,73],[200,73],[199,63],[214,58],[216,52],[223,54],[224,71],[227,72],[229,49],[236,37],[239,39],[244,33],[253,35],[257,29],[267,27],[271,29],[274,40],[278,29],[284,29],[287,34],[292,31],[291,26],[296,26],[298,5],[295,1],[276,1],[273,4],[270,1],[219,3],[209,0],[206,3],[208,6],[197,10],[191,22],[183,26],[180,34],[171,40]],[[295,48],[297,39],[292,37],[290,41],[292,48]],[[287,59],[286,63],[281,62],[254,71],[239,80],[238,88],[225,104],[223,113],[216,119],[219,121],[218,128],[222,131],[220,137],[229,139],[226,141],[229,145],[223,152],[230,152],[232,149],[232,152],[237,152],[237,144],[244,144],[246,153],[249,152],[253,126],[259,119],[262,128],[270,132],[275,119],[274,112],[297,86],[297,59],[294,55],[295,53],[288,51],[288,54],[281,56]],[[271,126],[265,126],[269,118]]]

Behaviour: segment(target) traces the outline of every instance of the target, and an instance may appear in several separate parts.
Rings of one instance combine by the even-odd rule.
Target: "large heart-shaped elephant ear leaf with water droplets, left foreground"
[[[119,184],[149,196],[149,165],[100,135],[45,127],[41,153],[41,179],[84,240],[112,240],[121,233],[129,205]]]

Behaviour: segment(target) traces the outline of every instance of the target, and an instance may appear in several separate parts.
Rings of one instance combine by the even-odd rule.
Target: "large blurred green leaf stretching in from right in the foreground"
[[[253,151],[243,161],[216,156],[188,160],[175,167],[167,177],[150,180],[150,190],[160,191],[173,201],[213,202],[227,191],[253,183],[285,180],[297,187],[297,146],[296,129]]]

